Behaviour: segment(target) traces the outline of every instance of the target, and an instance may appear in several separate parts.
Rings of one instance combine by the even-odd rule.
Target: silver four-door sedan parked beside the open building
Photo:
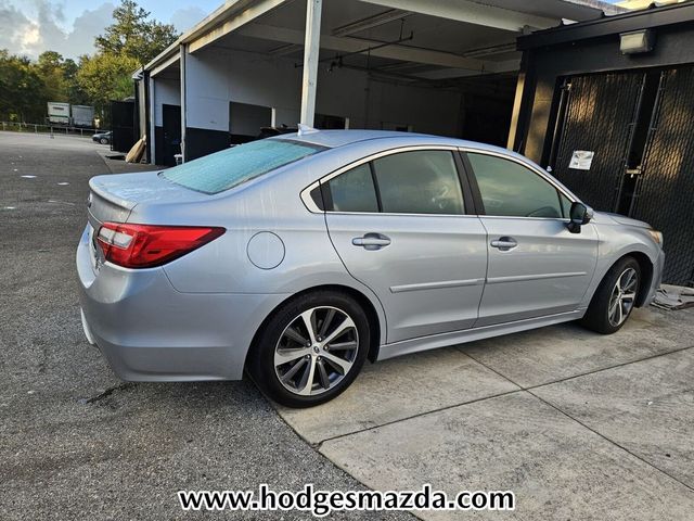
[[[305,130],[90,180],[82,325],[125,380],[235,380],[334,398],[367,359],[652,301],[663,236],[593,212],[503,149]]]

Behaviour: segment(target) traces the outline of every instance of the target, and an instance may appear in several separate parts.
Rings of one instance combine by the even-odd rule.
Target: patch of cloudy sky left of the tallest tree
[[[62,3],[34,0],[36,12],[27,15],[7,0],[0,0],[0,49],[11,53],[38,56],[43,51],[56,51],[65,58],[77,58],[94,51],[94,38],[112,23],[114,5],[102,3],[85,10],[72,27],[64,28]]]

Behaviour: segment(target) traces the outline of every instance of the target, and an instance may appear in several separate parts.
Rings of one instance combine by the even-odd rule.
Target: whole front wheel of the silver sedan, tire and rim
[[[582,326],[602,334],[619,331],[634,308],[640,284],[639,263],[633,257],[621,258],[597,287],[581,320]]]

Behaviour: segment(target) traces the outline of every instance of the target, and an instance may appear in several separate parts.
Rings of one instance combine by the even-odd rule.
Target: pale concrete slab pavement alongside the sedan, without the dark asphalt
[[[569,323],[386,360],[279,411],[372,488],[514,491],[485,519],[691,520],[693,346],[694,309],[639,309],[611,336]]]

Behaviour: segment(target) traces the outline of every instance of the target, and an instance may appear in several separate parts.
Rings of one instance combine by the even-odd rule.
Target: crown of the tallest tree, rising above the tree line
[[[126,55],[145,65],[179,37],[171,24],[150,18],[134,0],[123,0],[114,12],[114,23],[97,37],[97,49],[102,54]],[[137,68],[137,67],[136,67]]]

